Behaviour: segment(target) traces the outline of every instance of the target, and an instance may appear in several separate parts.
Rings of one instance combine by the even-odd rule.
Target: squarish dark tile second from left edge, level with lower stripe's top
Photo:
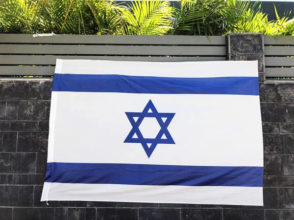
[[[36,173],[35,153],[12,153],[10,154],[10,163],[12,164],[12,173]]]

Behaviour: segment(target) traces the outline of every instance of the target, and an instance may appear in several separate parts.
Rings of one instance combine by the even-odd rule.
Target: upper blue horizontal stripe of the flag
[[[258,95],[258,77],[174,78],[54,74],[52,91]]]

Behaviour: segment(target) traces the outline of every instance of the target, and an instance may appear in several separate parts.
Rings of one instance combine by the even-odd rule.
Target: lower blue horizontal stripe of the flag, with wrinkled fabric
[[[45,182],[262,187],[263,167],[48,163]]]

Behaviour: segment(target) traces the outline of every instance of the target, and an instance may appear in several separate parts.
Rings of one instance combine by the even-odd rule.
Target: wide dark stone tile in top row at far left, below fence
[[[35,81],[14,81],[2,82],[1,99],[23,99],[23,100],[36,100],[39,99],[41,94],[40,82]]]

